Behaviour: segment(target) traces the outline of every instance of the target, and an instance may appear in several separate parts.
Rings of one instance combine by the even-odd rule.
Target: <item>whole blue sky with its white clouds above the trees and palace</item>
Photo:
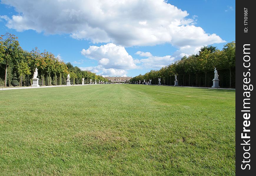
[[[136,76],[235,40],[235,1],[1,0],[0,34],[82,70]]]

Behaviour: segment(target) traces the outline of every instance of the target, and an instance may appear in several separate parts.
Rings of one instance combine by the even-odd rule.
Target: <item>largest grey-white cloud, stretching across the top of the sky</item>
[[[163,0],[2,0],[18,12],[1,16],[8,28],[47,34],[67,33],[93,43],[112,42],[125,47],[171,43],[177,48],[225,42],[196,27],[189,13]],[[40,8],[39,8],[40,7]],[[231,9],[231,8],[229,8]]]

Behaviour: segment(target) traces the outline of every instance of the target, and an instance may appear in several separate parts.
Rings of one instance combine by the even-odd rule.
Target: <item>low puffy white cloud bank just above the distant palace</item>
[[[80,67],[80,69],[110,76],[124,76],[127,75],[128,70],[131,69],[160,69],[174,61],[174,57],[169,55],[158,57],[153,56],[149,52],[142,51],[137,51],[135,54],[146,58],[140,60],[133,59],[124,47],[117,46],[113,43],[108,43],[99,47],[90,46],[87,50],[83,49],[81,54],[89,59],[97,60],[99,65],[93,67]]]

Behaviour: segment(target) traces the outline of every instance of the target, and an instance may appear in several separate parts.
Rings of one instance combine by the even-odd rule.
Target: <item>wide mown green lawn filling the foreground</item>
[[[235,175],[235,91],[0,91],[0,175]]]

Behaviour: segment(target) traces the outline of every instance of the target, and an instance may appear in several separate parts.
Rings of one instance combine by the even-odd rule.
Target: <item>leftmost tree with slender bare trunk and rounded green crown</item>
[[[5,35],[1,35],[1,62],[5,64],[5,78],[4,78],[4,86],[6,87],[7,81],[7,68],[10,64],[15,62],[16,59],[21,57],[21,47],[19,45],[19,41],[13,34],[6,33]]]

